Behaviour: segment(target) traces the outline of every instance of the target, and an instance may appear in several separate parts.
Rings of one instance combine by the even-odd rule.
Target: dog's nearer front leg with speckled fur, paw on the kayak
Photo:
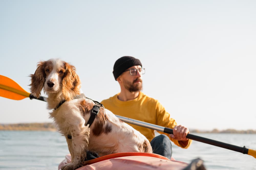
[[[83,166],[86,158],[86,151],[89,142],[90,128],[82,125],[81,127],[71,127],[73,161],[61,167],[62,170],[73,170]],[[72,159],[72,154],[71,154]]]

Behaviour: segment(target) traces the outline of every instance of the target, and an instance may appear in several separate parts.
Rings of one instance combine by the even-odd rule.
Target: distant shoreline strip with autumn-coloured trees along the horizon
[[[0,124],[0,130],[31,130],[31,131],[57,131],[53,123],[16,123],[16,124]],[[233,134],[256,134],[256,130],[198,130],[190,129],[190,133],[233,133]]]

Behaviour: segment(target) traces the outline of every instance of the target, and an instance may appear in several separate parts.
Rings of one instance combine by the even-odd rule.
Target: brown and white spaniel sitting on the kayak
[[[50,117],[66,137],[71,163],[61,169],[81,167],[88,150],[100,156],[119,152],[152,153],[145,136],[104,107],[100,107],[90,127],[85,125],[95,103],[84,96],[77,99],[81,82],[74,66],[59,59],[40,61],[30,77],[31,94],[38,98],[44,90],[48,95],[48,109],[53,109]],[[60,105],[62,101],[65,102]]]

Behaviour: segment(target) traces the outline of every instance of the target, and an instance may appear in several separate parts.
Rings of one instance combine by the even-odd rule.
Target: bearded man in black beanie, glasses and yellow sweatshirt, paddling
[[[113,74],[121,87],[121,92],[103,100],[101,103],[116,115],[172,128],[173,134],[159,132],[162,135],[155,137],[153,129],[131,125],[147,137],[154,153],[170,159],[172,156],[170,140],[179,147],[188,148],[192,142],[192,140],[186,138],[189,130],[184,126],[177,125],[176,121],[170,118],[170,114],[165,111],[165,108],[158,100],[150,98],[141,92],[141,76],[144,73],[145,69],[142,68],[139,59],[124,56],[116,60]]]

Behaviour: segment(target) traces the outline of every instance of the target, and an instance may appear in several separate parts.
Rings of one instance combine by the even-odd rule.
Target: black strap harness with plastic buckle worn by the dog
[[[85,97],[86,99],[90,99],[90,98],[86,97],[84,94],[80,94],[80,95],[76,96],[74,99],[80,99],[80,98],[83,98],[83,97]],[[92,100],[92,99],[90,99],[90,100]],[[61,104],[63,104],[65,101],[66,101],[66,100],[62,100],[62,101],[56,106],[56,108],[54,108],[54,110],[58,109],[58,108],[61,106]],[[99,113],[99,111],[100,111],[100,107],[103,107],[103,104],[101,104],[100,102],[95,101],[95,100],[92,100],[92,101],[95,103],[95,105],[94,105],[93,108],[92,108],[91,116],[90,116],[88,122],[84,124],[84,125],[88,125],[88,124],[89,124],[89,127],[92,125],[94,119],[95,119],[96,116],[98,115],[98,113]],[[72,136],[71,136],[71,135],[68,135],[67,137],[68,137],[68,139],[72,139]]]

